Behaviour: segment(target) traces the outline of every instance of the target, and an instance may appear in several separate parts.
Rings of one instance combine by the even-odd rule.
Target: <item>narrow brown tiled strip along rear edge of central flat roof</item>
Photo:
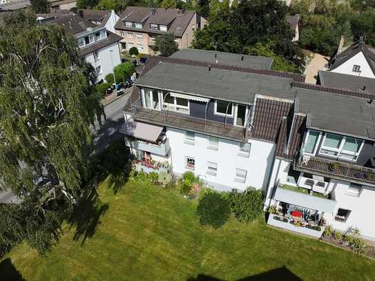
[[[275,77],[285,77],[294,79],[294,81],[302,82],[305,80],[303,75],[297,73],[290,73],[290,72],[278,72],[273,70],[262,70],[262,69],[255,69],[255,68],[247,68],[247,67],[240,67],[240,66],[230,66],[226,64],[211,64],[207,61],[194,61],[192,59],[178,59],[175,57],[156,57],[151,56],[148,57],[148,62],[146,66],[144,66],[143,74],[146,74],[152,68],[154,68],[159,61],[168,62],[172,64],[187,64],[191,66],[203,66],[211,68],[219,68],[219,69],[226,69],[226,70],[233,70],[233,71],[240,71],[240,72],[247,72],[247,73],[254,73],[259,75],[269,75]]]

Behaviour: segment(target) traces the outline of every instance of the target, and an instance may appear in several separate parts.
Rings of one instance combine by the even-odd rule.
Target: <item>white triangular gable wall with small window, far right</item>
[[[360,66],[360,72],[353,72],[353,66]],[[363,52],[358,52],[357,55],[352,57],[351,59],[345,61],[344,64],[338,66],[337,68],[331,70],[332,72],[343,73],[347,75],[355,75],[355,76],[362,76],[362,77],[369,77],[375,78],[374,72],[369,67]]]

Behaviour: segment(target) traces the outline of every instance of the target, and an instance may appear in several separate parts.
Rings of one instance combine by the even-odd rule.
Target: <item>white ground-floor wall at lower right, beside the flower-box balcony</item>
[[[347,194],[349,182],[331,180],[333,185],[332,199],[336,200],[337,210],[347,209],[352,211],[346,222],[338,222],[334,219],[329,221],[331,226],[340,231],[346,231],[349,226],[357,227],[364,238],[375,240],[375,219],[374,219],[374,202],[375,189],[369,186],[363,186],[359,197]]]

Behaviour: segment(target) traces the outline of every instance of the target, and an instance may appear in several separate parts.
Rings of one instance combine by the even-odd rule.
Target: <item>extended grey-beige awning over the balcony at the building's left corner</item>
[[[127,122],[119,129],[122,135],[128,135],[135,139],[142,139],[146,142],[156,142],[162,133],[163,127],[150,125],[142,122]]]

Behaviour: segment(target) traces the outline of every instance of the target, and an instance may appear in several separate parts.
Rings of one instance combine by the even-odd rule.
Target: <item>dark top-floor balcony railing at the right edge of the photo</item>
[[[375,184],[375,169],[358,166],[355,164],[347,164],[336,162],[334,160],[323,159],[319,157],[302,156],[296,159],[297,169],[306,169],[327,174],[330,177],[344,178],[353,182]]]

